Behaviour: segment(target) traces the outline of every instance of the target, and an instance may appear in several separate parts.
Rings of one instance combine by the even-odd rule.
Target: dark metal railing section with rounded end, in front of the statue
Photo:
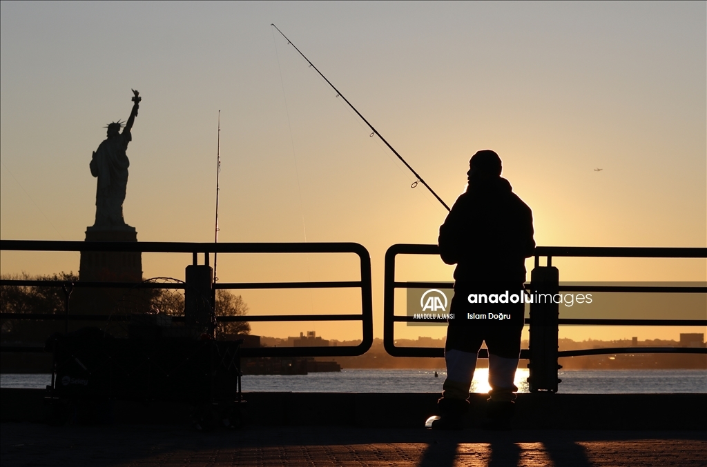
[[[216,317],[216,321],[361,321],[362,340],[358,345],[334,347],[274,347],[242,348],[243,357],[339,357],[363,355],[373,344],[373,298],[371,295],[370,255],[361,244],[332,243],[187,243],[187,242],[60,242],[45,240],[0,240],[1,251],[24,252],[141,252],[141,253],[203,253],[208,263],[210,253],[353,253],[358,255],[361,280],[326,282],[267,282],[267,283],[216,283],[217,289],[305,289],[305,288],[361,288],[361,314],[276,314]],[[107,314],[70,314],[69,293],[73,288],[172,288],[184,289],[185,284],[85,282],[52,280],[0,280],[0,285],[27,285],[62,287],[66,292],[66,314],[1,313],[0,319],[105,321]],[[111,320],[130,319],[129,315],[111,315]],[[173,317],[184,321],[185,317]],[[2,351],[42,352],[37,347],[2,346]]]

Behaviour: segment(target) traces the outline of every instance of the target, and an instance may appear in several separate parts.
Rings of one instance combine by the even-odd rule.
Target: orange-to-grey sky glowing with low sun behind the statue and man
[[[414,176],[275,23],[448,204],[464,190],[471,155],[491,148],[533,210],[539,245],[706,247],[706,16],[704,2],[2,2],[0,237],[84,240],[95,215],[91,153],[106,124],[127,119],[135,88],[143,101],[125,220],[141,241],[213,241],[221,110],[219,240],[363,244],[382,337],[385,250],[436,243],[446,210],[410,188]],[[183,279],[189,261],[144,254],[144,276]],[[703,259],[554,265],[561,280],[707,280]],[[452,273],[439,259],[400,268],[399,280]],[[78,254],[3,252],[0,269],[77,271]],[[223,255],[218,276],[347,280],[358,271],[346,255]],[[360,305],[350,292],[243,296],[252,314]],[[279,337],[312,329],[360,336],[350,324],[253,325]]]

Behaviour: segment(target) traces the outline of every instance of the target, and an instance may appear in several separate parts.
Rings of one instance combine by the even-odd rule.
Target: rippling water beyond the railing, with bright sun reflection
[[[446,377],[443,370],[341,370],[336,373],[305,375],[247,375],[243,391],[258,392],[399,392],[442,391]],[[515,374],[518,392],[528,392],[527,369]],[[704,370],[575,370],[561,371],[559,392],[565,394],[626,393],[707,393]],[[479,368],[474,374],[472,392],[489,391],[489,370]],[[0,386],[44,389],[51,384],[50,374],[0,374]]]

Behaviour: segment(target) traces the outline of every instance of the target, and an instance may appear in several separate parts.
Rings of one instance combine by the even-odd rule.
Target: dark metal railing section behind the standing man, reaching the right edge
[[[387,353],[394,357],[444,357],[443,348],[432,347],[398,347],[395,345],[395,323],[411,322],[416,323],[440,323],[446,319],[414,319],[409,316],[395,315],[395,289],[398,288],[439,288],[439,282],[397,282],[395,280],[395,260],[401,254],[424,254],[439,255],[437,245],[431,244],[395,244],[385,253],[385,290],[383,297],[383,345]],[[707,258],[707,248],[633,248],[633,247],[537,247],[534,252],[535,268],[549,268],[552,266],[553,256],[566,257],[603,257],[603,258]],[[547,266],[540,266],[540,257],[547,258]],[[535,270],[535,269],[534,269]],[[451,285],[451,283],[450,283]],[[527,287],[530,290],[537,290],[539,284],[533,283]],[[573,292],[681,292],[681,293],[707,293],[707,287],[654,287],[654,286],[581,286],[581,285],[550,285],[554,290]],[[547,283],[544,284],[547,288]],[[581,350],[561,350],[556,348],[558,325],[590,325],[590,326],[707,326],[707,319],[575,319],[559,318],[555,314],[551,321],[543,320],[539,325],[539,316],[536,312],[534,317],[533,305],[531,306],[530,319],[525,319],[525,324],[530,325],[531,345],[530,348],[520,351],[520,358],[530,360],[529,367],[554,368],[557,373],[557,358],[576,357],[580,355],[606,355],[619,353],[707,353],[707,348],[685,348],[685,347],[630,347],[630,348],[592,348]],[[538,310],[539,311],[539,310]],[[552,318],[552,317],[551,317]],[[537,348],[533,351],[533,333],[540,333],[540,329],[548,329],[554,326],[554,355],[539,355],[543,352]],[[488,358],[486,349],[479,352],[479,357]],[[552,361],[554,358],[554,362]],[[541,360],[541,361],[539,361]],[[549,361],[548,361],[549,360]],[[547,378],[551,381],[552,377]],[[556,376],[554,377],[556,379]],[[548,383],[550,384],[550,383]],[[541,386],[547,386],[542,384]],[[546,389],[546,388],[540,388]],[[553,388],[549,388],[552,390]],[[554,384],[556,390],[556,383]]]

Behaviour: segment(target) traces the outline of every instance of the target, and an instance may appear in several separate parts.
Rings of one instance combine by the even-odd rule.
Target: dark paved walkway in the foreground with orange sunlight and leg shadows
[[[0,424],[11,466],[707,466],[707,432]]]

